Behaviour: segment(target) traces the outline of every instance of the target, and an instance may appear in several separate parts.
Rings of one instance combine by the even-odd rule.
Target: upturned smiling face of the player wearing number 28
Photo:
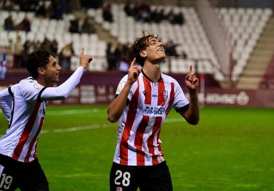
[[[150,45],[144,51],[147,55],[147,59],[151,62],[162,61],[166,58],[163,43],[156,38],[149,39]]]

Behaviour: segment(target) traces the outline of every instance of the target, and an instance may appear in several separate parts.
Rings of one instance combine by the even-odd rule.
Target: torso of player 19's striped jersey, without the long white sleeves
[[[10,126],[0,139],[0,153],[21,162],[37,158],[39,133],[44,123],[47,102],[38,102],[43,89],[32,78],[21,80],[13,92]]]

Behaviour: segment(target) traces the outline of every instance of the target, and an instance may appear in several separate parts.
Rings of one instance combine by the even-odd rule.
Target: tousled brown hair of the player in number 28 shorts
[[[159,41],[161,40],[158,38],[157,34],[150,33],[147,30],[142,30],[141,37],[134,39],[134,41],[129,44],[130,48],[126,54],[127,63],[131,63],[133,59],[136,58],[137,64],[141,66],[144,65],[145,59],[139,55],[139,52],[142,50],[145,50],[150,45],[149,43],[150,38],[156,38]]]

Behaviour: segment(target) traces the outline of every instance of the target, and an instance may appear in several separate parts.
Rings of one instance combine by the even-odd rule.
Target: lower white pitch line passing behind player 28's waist
[[[166,119],[164,123],[173,123],[173,122],[185,122],[184,118],[173,118],[173,119]],[[53,130],[42,130],[41,133],[62,133],[62,132],[72,132],[72,131],[78,131],[78,130],[88,130],[88,129],[94,129],[94,128],[108,128],[108,127],[115,127],[117,125],[111,124],[103,124],[103,125],[92,125],[92,126],[82,126],[82,127],[71,127],[71,128],[59,128],[59,129],[53,129]]]

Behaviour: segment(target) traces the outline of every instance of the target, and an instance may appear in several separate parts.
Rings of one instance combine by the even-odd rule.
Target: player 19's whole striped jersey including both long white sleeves
[[[58,87],[44,87],[29,77],[9,87],[8,91],[0,91],[0,106],[4,106],[3,112],[9,117],[9,127],[0,138],[0,153],[20,162],[36,159],[37,141],[44,123],[47,101],[66,98],[79,83],[83,72],[84,68],[78,67]]]

